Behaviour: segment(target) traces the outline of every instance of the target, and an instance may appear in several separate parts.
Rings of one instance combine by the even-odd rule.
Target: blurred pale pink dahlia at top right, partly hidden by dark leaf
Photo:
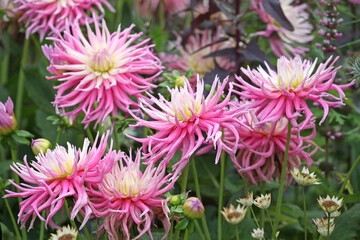
[[[259,14],[262,21],[267,24],[266,30],[257,32],[254,35],[269,38],[271,49],[278,57],[303,54],[309,50],[307,47],[294,46],[294,44],[306,44],[313,40],[310,35],[313,29],[308,22],[309,14],[305,12],[308,7],[305,3],[292,5],[293,0],[280,0],[281,8],[294,30],[289,31],[283,28],[264,9],[262,0],[252,0],[252,8]]]

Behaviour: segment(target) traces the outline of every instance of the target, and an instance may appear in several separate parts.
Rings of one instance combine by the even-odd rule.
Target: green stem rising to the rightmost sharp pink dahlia
[[[275,226],[272,233],[272,236],[275,237],[276,231],[279,226],[279,220],[280,220],[280,214],[281,214],[281,203],[282,203],[282,196],[284,191],[284,185],[285,185],[285,175],[286,175],[286,169],[287,169],[287,162],[288,162],[288,156],[289,156],[289,147],[290,147],[290,138],[291,138],[291,123],[288,120],[288,130],[287,130],[287,139],[286,139],[286,149],[284,154],[284,160],[282,163],[282,169],[281,169],[281,178],[280,178],[280,186],[278,191],[278,198],[276,201],[276,209],[275,209]]]

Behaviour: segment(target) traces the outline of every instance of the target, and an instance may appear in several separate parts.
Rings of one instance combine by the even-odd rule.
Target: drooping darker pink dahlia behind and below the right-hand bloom
[[[250,110],[242,116],[244,126],[238,126],[240,141],[236,142],[232,133],[225,132],[225,141],[236,144],[238,154],[234,161],[238,173],[255,184],[260,181],[270,182],[272,178],[280,178],[287,140],[288,120],[282,117],[276,123],[267,122],[258,125],[258,112]],[[316,135],[315,124],[311,123],[305,129],[312,129],[309,136],[299,136],[296,129],[292,129],[287,159],[286,181],[292,179],[290,170],[299,167],[301,160],[308,166],[313,160],[311,156],[316,152],[317,146],[311,141]],[[310,146],[314,150],[307,152]]]

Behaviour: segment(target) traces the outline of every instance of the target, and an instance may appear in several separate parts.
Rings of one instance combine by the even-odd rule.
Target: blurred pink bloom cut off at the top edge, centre
[[[159,4],[163,5],[163,11],[167,14],[183,13],[188,7],[190,7],[191,0],[137,0],[134,1],[135,8],[140,8],[143,16],[154,14],[159,7]],[[183,14],[181,14],[183,16]]]

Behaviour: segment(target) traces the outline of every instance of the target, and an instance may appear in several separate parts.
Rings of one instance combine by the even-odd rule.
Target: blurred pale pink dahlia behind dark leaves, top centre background
[[[206,73],[215,68],[215,61],[221,68],[229,71],[234,67],[234,64],[227,57],[216,57],[215,60],[213,57],[204,58],[215,51],[232,47],[229,41],[212,44],[223,36],[221,28],[217,29],[214,36],[212,36],[210,29],[196,30],[195,35],[191,35],[187,39],[186,45],[182,46],[182,38],[177,35],[177,40],[173,45],[174,49],[180,52],[180,55],[162,53],[160,58],[164,66],[171,71],[178,70],[181,74],[185,74],[191,68],[193,75],[189,78],[189,81],[195,87],[197,74],[199,74],[200,78],[203,78]]]

